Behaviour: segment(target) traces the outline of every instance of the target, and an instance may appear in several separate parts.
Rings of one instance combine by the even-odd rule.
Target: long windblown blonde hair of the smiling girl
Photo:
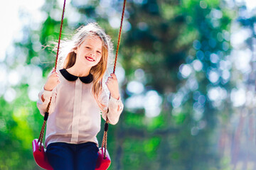
[[[113,45],[110,36],[108,36],[97,23],[89,23],[86,26],[80,26],[80,28],[75,31],[71,40],[64,40],[61,42],[57,67],[58,69],[68,69],[73,67],[76,60],[76,53],[74,50],[76,50],[85,38],[90,35],[96,36],[102,40],[102,57],[100,62],[90,69],[90,74],[93,76],[92,94],[101,110],[104,111],[105,105],[100,103],[99,98],[103,90],[103,77],[107,71],[107,67],[110,67],[110,62],[112,61]]]

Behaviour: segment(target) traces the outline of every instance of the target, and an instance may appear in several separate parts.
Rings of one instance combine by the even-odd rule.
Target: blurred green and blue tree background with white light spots
[[[67,0],[62,38],[99,23],[117,45],[121,0]],[[0,6],[0,169],[40,169],[31,142],[63,0]],[[256,169],[256,1],[127,0],[111,169]],[[102,140],[102,132],[98,135]]]

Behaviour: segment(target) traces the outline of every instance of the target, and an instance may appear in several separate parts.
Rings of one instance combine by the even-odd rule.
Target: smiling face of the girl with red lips
[[[74,52],[77,55],[75,62],[93,67],[102,57],[102,40],[97,36],[89,35]]]

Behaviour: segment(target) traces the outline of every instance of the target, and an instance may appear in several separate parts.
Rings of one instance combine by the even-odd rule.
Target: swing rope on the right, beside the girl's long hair
[[[114,58],[114,69],[113,69],[113,73],[115,72],[115,68],[117,66],[117,55],[118,55],[118,50],[119,50],[119,44],[120,44],[120,39],[121,39],[121,33],[122,33],[122,23],[124,20],[124,9],[125,9],[125,4],[126,4],[126,0],[124,0],[124,4],[123,4],[123,8],[122,8],[122,18],[121,18],[121,23],[120,23],[120,28],[119,28],[119,35],[118,35],[118,40],[117,40],[117,51],[116,51],[116,55]],[[111,94],[110,94],[111,96]],[[109,112],[109,108],[107,108],[107,113]],[[107,116],[106,116],[107,117]],[[106,122],[105,122],[105,126],[104,126],[104,135],[102,138],[102,147],[104,147],[104,159],[106,159],[106,150],[107,150],[107,130],[108,130],[108,125],[109,120],[108,118],[106,118]]]

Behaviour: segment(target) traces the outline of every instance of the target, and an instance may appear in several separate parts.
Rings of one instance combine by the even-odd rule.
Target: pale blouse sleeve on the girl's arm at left
[[[42,96],[44,98],[44,101],[42,100]],[[51,102],[50,102],[50,97],[52,97]],[[53,113],[55,108],[55,98],[56,98],[55,89],[53,89],[53,91],[46,91],[44,89],[41,90],[41,92],[38,94],[38,101],[36,103],[41,115],[43,116],[45,115],[46,108],[49,102],[50,102],[49,115]]]

